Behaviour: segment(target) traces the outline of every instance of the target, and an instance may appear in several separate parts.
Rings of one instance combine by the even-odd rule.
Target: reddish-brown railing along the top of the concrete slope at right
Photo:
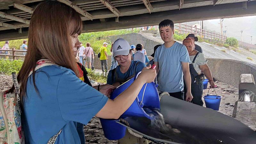
[[[222,42],[226,41],[228,38],[227,36],[223,36],[221,34],[217,34],[217,33],[214,33],[214,32],[208,31],[208,30],[204,30],[201,28],[189,26],[189,25],[183,24],[183,23],[179,23],[179,25],[175,25],[174,29],[178,30],[180,34],[192,33],[192,34],[195,34],[195,36],[200,36],[203,38],[222,41]],[[253,44],[245,43],[242,41],[238,41],[238,44],[243,47],[250,47],[250,48],[256,49],[256,45],[253,45]]]

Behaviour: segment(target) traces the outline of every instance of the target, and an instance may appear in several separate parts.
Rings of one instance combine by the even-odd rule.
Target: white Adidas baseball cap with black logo
[[[113,44],[113,57],[117,55],[128,55],[130,49],[130,44],[123,38],[119,38]]]

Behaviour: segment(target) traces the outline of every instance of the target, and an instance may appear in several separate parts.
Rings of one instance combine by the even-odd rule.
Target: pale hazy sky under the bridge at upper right
[[[187,22],[188,25],[199,24],[199,21]],[[204,20],[204,29],[220,33],[220,19]],[[223,20],[223,30],[227,30],[226,36],[235,37],[237,40],[242,39],[241,31],[243,31],[243,41],[256,44],[256,16],[228,18]],[[226,27],[225,27],[226,26]]]

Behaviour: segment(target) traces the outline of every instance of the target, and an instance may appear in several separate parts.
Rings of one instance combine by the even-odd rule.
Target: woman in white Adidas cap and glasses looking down
[[[117,39],[114,42],[113,57],[119,66],[109,71],[107,84],[116,87],[131,79],[136,73],[146,67],[143,62],[132,61],[131,46],[123,38]]]

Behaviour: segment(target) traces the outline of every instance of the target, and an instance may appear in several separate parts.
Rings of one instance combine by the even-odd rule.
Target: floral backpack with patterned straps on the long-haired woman
[[[39,60],[35,71],[44,66],[54,65],[50,60]],[[29,76],[32,74],[30,72]],[[20,86],[16,73],[12,73],[15,91],[0,92],[0,144],[25,144],[25,137],[21,126]],[[62,130],[62,129],[61,129]],[[54,135],[47,144],[54,144],[61,130]]]

